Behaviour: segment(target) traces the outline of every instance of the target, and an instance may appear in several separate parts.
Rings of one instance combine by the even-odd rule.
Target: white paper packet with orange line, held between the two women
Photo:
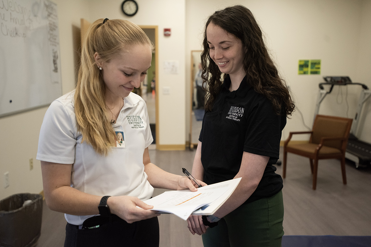
[[[153,206],[150,210],[175,214],[183,220],[187,220],[195,210],[196,214],[210,215],[223,205],[240,181],[241,178],[236,178],[210,184],[198,188],[196,192],[190,190],[166,191],[144,202]]]

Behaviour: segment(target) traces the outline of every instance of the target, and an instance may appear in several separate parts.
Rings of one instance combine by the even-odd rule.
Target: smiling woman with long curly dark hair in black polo
[[[214,215],[191,216],[188,228],[204,246],[281,246],[283,184],[273,164],[295,105],[246,7],[212,14],[203,47],[208,96],[192,174],[207,184],[242,180]]]

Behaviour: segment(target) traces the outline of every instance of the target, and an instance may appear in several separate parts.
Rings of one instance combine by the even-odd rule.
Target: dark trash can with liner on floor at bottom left
[[[28,204],[23,206],[25,201]],[[40,237],[42,211],[43,197],[40,194],[14,194],[1,200],[0,246],[35,246]]]

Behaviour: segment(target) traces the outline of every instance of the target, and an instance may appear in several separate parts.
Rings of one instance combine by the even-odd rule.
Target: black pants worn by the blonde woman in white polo
[[[66,225],[65,247],[158,247],[159,244],[160,229],[157,217],[129,224],[115,216],[112,223],[92,229],[79,229],[69,223]]]

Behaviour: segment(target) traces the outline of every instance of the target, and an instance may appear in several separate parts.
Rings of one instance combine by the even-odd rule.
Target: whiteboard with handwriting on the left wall
[[[62,96],[57,5],[0,1],[0,117]]]

